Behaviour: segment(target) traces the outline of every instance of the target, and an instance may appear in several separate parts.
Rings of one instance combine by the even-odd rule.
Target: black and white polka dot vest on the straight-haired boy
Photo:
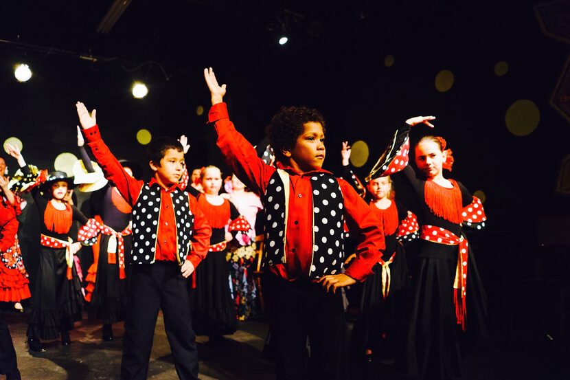
[[[161,191],[158,183],[145,183],[133,207],[133,250],[130,261],[135,264],[155,262],[157,232],[160,216]],[[188,193],[176,188],[170,193],[176,220],[176,252],[179,264],[190,251],[190,236],[194,230],[194,215],[190,210]]]

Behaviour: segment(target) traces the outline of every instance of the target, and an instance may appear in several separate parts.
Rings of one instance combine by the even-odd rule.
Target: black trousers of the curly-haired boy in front
[[[270,273],[264,278],[264,291],[271,308],[276,378],[345,379],[347,333],[341,292],[326,293],[320,284],[289,282]]]

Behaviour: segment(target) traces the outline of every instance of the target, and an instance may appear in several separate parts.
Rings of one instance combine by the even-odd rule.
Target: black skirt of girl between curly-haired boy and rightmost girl
[[[402,245],[396,245],[396,255],[390,267],[390,287],[387,298],[382,294],[382,266],[372,267],[373,273],[363,282],[358,318],[352,331],[352,352],[364,350],[384,356],[394,356],[402,350],[410,309],[410,281]]]

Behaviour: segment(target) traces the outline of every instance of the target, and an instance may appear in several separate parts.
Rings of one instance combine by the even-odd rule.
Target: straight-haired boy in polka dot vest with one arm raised
[[[133,208],[133,264],[128,289],[121,379],[146,379],[159,309],[180,379],[198,379],[196,335],[192,330],[185,278],[206,256],[212,230],[196,199],[180,190],[183,147],[161,137],[148,146],[153,172],[147,183],[130,177],[104,144],[95,119],[76,104],[84,137],[105,177]]]

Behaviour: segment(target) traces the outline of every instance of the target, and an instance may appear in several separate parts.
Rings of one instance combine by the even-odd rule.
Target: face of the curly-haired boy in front
[[[291,150],[284,150],[285,157],[289,157],[289,164],[301,172],[310,172],[320,169],[325,160],[325,134],[319,122],[303,124],[304,131],[297,137],[295,146]]]

